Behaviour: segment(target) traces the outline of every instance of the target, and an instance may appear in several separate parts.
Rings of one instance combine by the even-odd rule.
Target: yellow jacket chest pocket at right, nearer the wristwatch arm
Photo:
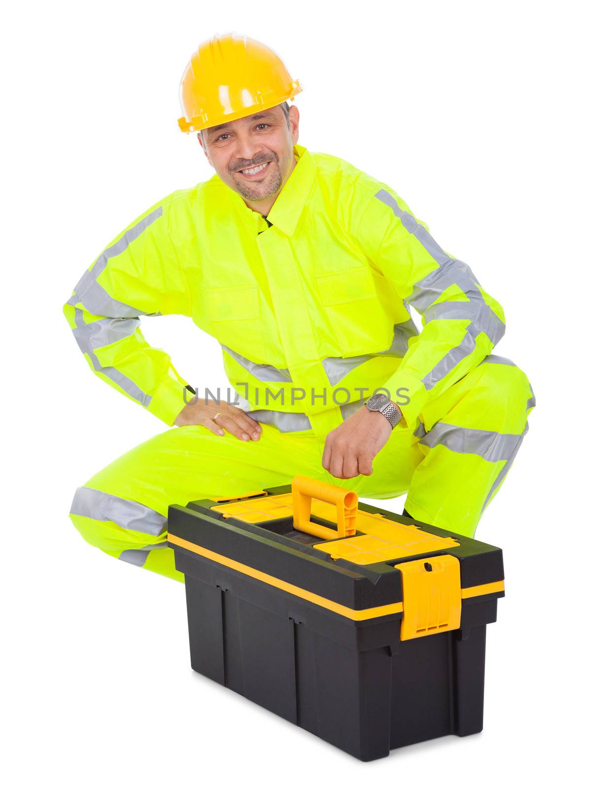
[[[378,298],[375,278],[367,266],[316,277],[319,299],[333,326],[342,355],[385,350],[393,336],[393,320]]]

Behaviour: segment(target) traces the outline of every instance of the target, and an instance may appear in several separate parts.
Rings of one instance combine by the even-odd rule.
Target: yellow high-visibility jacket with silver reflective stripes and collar
[[[215,174],[132,221],[65,303],[95,373],[168,425],[190,395],[143,315],[189,315],[221,344],[242,407],[322,438],[379,388],[415,425],[505,332],[500,304],[393,189],[294,153],[271,226]]]

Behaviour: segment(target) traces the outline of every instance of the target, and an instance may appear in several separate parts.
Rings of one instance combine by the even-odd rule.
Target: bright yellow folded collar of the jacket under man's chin
[[[267,216],[275,227],[278,227],[287,236],[292,236],[303,211],[304,204],[307,202],[308,195],[315,180],[316,165],[315,160],[306,147],[302,145],[293,146],[293,152],[297,159],[293,172],[290,173],[274,205]],[[211,180],[223,181],[215,173]],[[226,185],[226,184],[224,184]],[[229,192],[229,199],[236,207],[237,213],[243,217],[244,221],[252,226],[255,235],[259,229],[267,227],[261,214],[249,208],[244,200],[237,194],[237,191],[226,186]]]

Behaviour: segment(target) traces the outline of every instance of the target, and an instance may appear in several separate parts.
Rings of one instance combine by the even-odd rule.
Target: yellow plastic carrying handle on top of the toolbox
[[[356,533],[358,493],[327,481],[319,481],[299,474],[293,478],[293,526],[296,530],[311,533],[319,539],[352,537]],[[311,498],[335,504],[337,511],[337,533],[332,528],[311,522]]]

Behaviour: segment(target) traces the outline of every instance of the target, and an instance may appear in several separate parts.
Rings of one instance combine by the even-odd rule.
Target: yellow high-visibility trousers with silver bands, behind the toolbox
[[[416,520],[473,536],[512,466],[535,406],[526,374],[488,355],[420,414],[397,425],[369,476],[341,479],[322,467],[323,443],[311,430],[281,433],[263,424],[259,440],[214,435],[203,426],[168,429],[132,448],[76,491],[70,517],[86,541],[109,556],[183,582],[166,546],[170,504],[238,497],[289,484],[296,474],[359,496],[407,492]]]

